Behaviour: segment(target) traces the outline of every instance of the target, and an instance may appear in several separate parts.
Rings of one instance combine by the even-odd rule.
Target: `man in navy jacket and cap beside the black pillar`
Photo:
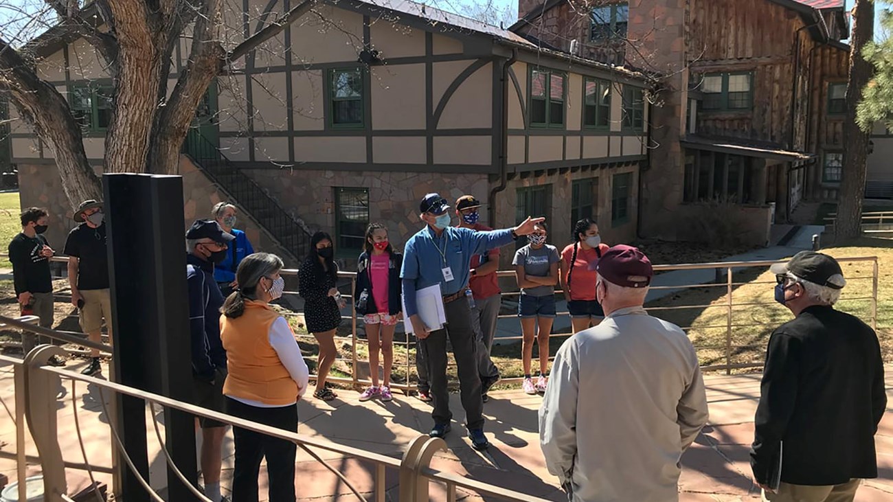
[[[214,280],[214,264],[226,257],[233,239],[217,222],[210,220],[196,220],[186,233],[193,404],[221,413],[227,369],[220,325],[223,295]],[[204,495],[218,502],[221,500],[221,446],[227,425],[207,418],[199,418],[199,423]]]

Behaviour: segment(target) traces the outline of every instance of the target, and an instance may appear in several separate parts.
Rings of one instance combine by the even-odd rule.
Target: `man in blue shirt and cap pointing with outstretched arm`
[[[453,414],[449,409],[447,392],[447,337],[453,346],[459,373],[465,426],[472,439],[472,448],[484,450],[489,446],[484,436],[483,400],[481,399],[478,359],[475,355],[472,310],[465,299],[471,276],[473,255],[486,253],[494,247],[510,244],[514,239],[533,232],[533,225],[545,218],[528,218],[513,229],[475,231],[450,226],[447,199],[428,194],[419,205],[421,220],[427,225],[406,242],[403,268],[405,316],[413,323],[413,332],[423,345],[428,357],[431,397],[434,398],[434,427],[429,435],[443,438],[450,431]],[[443,295],[447,326],[430,330],[418,314],[415,292],[435,284]]]

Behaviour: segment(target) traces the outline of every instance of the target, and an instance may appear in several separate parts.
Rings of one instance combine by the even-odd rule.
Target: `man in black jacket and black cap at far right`
[[[775,299],[796,316],[772,333],[750,452],[772,502],[844,502],[878,476],[874,434],[887,406],[878,337],[834,310],[840,265],[803,251],[775,264]]]

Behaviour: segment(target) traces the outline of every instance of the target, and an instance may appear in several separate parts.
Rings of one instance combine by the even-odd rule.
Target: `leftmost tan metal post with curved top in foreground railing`
[[[56,423],[56,396],[59,393],[60,379],[59,375],[47,372],[41,366],[46,365],[52,356],[64,355],[65,351],[60,347],[42,345],[25,356],[25,416],[31,437],[38,447],[46,502],[63,500],[62,496],[67,494],[68,487]],[[24,479],[20,479],[19,486],[24,482]]]

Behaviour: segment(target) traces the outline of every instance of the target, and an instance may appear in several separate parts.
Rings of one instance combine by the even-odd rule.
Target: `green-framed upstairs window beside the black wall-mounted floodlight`
[[[331,129],[363,129],[366,125],[366,71],[331,69],[326,75],[326,115]]]

